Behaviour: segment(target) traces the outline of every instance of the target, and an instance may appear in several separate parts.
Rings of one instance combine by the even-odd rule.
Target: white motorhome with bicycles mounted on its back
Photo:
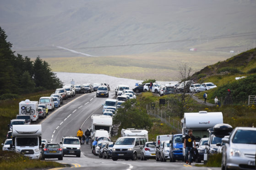
[[[29,115],[32,121],[38,120],[38,101],[26,99],[19,103],[19,115]]]

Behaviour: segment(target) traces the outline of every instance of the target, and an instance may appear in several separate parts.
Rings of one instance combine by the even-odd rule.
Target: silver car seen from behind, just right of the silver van
[[[156,157],[156,142],[146,142],[141,152],[141,160],[147,160]]]

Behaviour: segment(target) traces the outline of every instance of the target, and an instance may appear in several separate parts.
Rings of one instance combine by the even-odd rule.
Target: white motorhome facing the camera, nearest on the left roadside
[[[41,125],[13,125],[12,148],[29,159],[41,159],[41,135]]]

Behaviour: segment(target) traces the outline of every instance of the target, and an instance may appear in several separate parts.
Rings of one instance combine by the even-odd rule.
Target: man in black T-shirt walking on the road
[[[188,135],[185,136],[185,139],[184,139],[186,164],[189,163],[189,165],[191,165],[191,162],[192,162],[193,143],[194,143],[194,148],[196,149],[196,138],[193,136],[193,131],[189,129],[189,133]],[[188,154],[189,154],[189,158],[188,158]]]

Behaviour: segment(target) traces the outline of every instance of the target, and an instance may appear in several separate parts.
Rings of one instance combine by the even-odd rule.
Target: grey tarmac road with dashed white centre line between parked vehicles
[[[60,139],[64,135],[74,135],[79,128],[85,131],[91,126],[91,115],[102,114],[102,104],[106,98],[95,97],[96,93],[88,93],[76,96],[75,99],[67,104],[51,112],[47,118],[39,122],[42,124],[43,134],[42,138],[47,139],[49,142],[60,143]],[[114,98],[114,91],[110,91],[109,98]],[[81,145],[82,154],[78,158],[74,156],[65,156],[63,160],[46,159],[46,161],[57,161],[64,164],[69,164],[71,167],[65,170],[71,170],[74,167],[80,170],[93,169],[111,169],[111,170],[166,170],[166,169],[193,169],[193,170],[219,170],[220,168],[206,168],[186,165],[182,161],[175,163],[170,162],[156,162],[154,159],[147,161],[122,160],[113,161],[112,159],[102,159],[92,154],[90,145]]]

